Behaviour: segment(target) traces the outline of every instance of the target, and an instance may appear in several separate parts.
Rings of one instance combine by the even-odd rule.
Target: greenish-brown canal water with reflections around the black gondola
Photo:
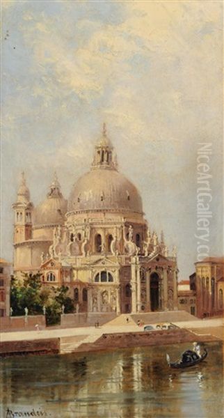
[[[191,343],[85,355],[0,359],[1,417],[223,417],[221,343],[198,366],[170,369]],[[32,415],[31,415],[32,414]]]

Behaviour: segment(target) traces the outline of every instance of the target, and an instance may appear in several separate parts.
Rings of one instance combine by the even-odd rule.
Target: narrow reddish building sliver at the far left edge
[[[0,258],[0,317],[10,316],[11,264]]]

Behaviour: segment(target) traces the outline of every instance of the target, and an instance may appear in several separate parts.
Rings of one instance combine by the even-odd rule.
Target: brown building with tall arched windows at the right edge
[[[199,318],[223,316],[224,257],[207,257],[195,263],[190,288],[195,291]]]

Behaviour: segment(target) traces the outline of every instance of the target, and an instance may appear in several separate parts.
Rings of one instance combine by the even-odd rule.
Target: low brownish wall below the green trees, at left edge
[[[35,325],[37,324],[40,329],[46,327],[44,315],[7,316],[0,318],[1,331],[35,330]]]

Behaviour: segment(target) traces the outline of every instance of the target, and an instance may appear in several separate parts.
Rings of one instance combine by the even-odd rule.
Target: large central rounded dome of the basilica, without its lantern
[[[115,169],[93,169],[73,186],[69,211],[122,210],[143,212],[136,187]]]

